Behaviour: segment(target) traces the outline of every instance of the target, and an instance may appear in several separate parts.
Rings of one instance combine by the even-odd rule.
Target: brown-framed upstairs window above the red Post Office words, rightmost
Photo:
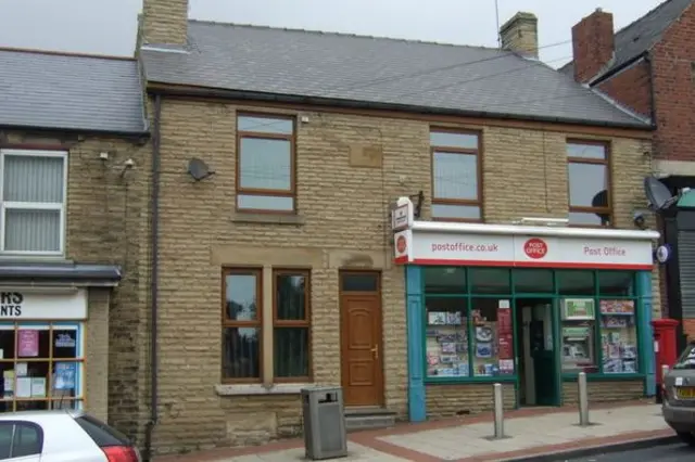
[[[610,226],[608,144],[587,140],[568,141],[567,177],[570,224]]]

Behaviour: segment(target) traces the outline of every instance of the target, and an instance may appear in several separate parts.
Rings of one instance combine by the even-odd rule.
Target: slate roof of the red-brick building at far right
[[[691,3],[693,0],[667,0],[632,24],[618,30],[615,35],[615,57],[601,75],[618,69],[650,50]],[[560,67],[559,70],[573,76],[573,61]]]

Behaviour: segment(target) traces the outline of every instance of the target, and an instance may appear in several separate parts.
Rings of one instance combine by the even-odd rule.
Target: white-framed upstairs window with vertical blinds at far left
[[[65,252],[67,152],[0,150],[0,254]]]

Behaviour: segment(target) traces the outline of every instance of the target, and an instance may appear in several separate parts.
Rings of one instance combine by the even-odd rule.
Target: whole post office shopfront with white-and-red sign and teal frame
[[[406,265],[410,420],[653,395],[652,231],[416,221]]]

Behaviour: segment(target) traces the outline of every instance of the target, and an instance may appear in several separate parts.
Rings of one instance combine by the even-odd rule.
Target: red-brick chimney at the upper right
[[[612,14],[601,8],[572,27],[574,80],[586,82],[612,60]]]

